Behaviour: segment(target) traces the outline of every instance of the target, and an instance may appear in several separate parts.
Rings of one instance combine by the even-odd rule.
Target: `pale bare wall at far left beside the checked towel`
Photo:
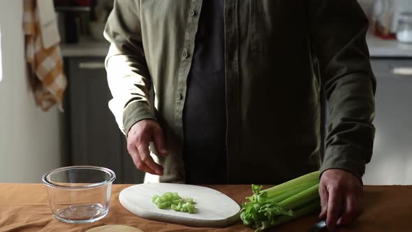
[[[61,114],[36,107],[24,61],[22,0],[0,1],[0,182],[40,182],[61,166]]]

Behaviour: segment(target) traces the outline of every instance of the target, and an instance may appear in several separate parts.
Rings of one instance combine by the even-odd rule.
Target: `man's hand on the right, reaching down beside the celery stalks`
[[[321,176],[321,219],[328,229],[351,224],[363,212],[363,188],[358,177],[341,169],[328,169]]]

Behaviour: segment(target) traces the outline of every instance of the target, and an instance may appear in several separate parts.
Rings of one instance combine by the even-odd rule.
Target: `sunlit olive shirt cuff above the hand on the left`
[[[147,103],[142,101],[132,101],[128,103],[123,110],[123,133],[127,137],[128,131],[136,122],[142,119],[153,119],[156,121],[156,117],[150,113],[150,107]]]

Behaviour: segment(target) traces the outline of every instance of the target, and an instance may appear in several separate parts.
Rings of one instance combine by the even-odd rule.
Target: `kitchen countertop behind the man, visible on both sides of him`
[[[383,40],[369,34],[367,44],[371,57],[412,57],[412,43],[399,43],[395,40]],[[83,39],[81,43],[61,45],[64,57],[105,57],[109,43]]]

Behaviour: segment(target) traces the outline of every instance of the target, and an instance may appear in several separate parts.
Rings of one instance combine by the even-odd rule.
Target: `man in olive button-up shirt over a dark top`
[[[115,1],[110,108],[135,166],[148,182],[193,184],[321,168],[320,217],[353,222],[374,138],[367,29],[355,0]]]

